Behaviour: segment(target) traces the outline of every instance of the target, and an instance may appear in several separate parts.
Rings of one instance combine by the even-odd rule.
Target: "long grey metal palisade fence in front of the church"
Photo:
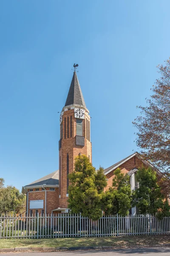
[[[170,217],[104,215],[97,221],[81,214],[1,216],[0,238],[105,237],[170,234]]]

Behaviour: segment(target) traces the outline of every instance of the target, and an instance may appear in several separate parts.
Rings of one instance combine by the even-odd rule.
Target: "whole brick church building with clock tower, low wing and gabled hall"
[[[59,170],[23,186],[22,192],[26,194],[28,215],[35,215],[38,212],[42,215],[69,212],[68,174],[74,170],[75,157],[85,154],[92,163],[90,128],[91,118],[75,70],[65,106],[60,114]],[[114,170],[118,167],[130,175],[131,189],[136,189],[136,171],[142,165],[155,169],[137,152],[105,169],[108,181],[106,189],[112,185]],[[155,171],[161,175],[157,169]],[[132,214],[136,213],[135,207],[131,210]]]

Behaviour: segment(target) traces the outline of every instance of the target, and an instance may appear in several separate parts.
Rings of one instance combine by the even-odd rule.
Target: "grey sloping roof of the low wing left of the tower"
[[[24,187],[29,187],[29,186],[41,186],[41,185],[59,185],[59,171],[51,172],[50,174],[40,178],[39,180],[35,180],[28,185]]]

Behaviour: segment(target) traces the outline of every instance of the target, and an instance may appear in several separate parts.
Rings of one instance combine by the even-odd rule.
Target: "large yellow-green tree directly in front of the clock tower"
[[[88,157],[80,155],[76,158],[75,169],[69,174],[69,180],[68,207],[71,212],[81,212],[92,220],[102,217],[101,199],[107,185],[103,169],[100,167],[96,172]]]

